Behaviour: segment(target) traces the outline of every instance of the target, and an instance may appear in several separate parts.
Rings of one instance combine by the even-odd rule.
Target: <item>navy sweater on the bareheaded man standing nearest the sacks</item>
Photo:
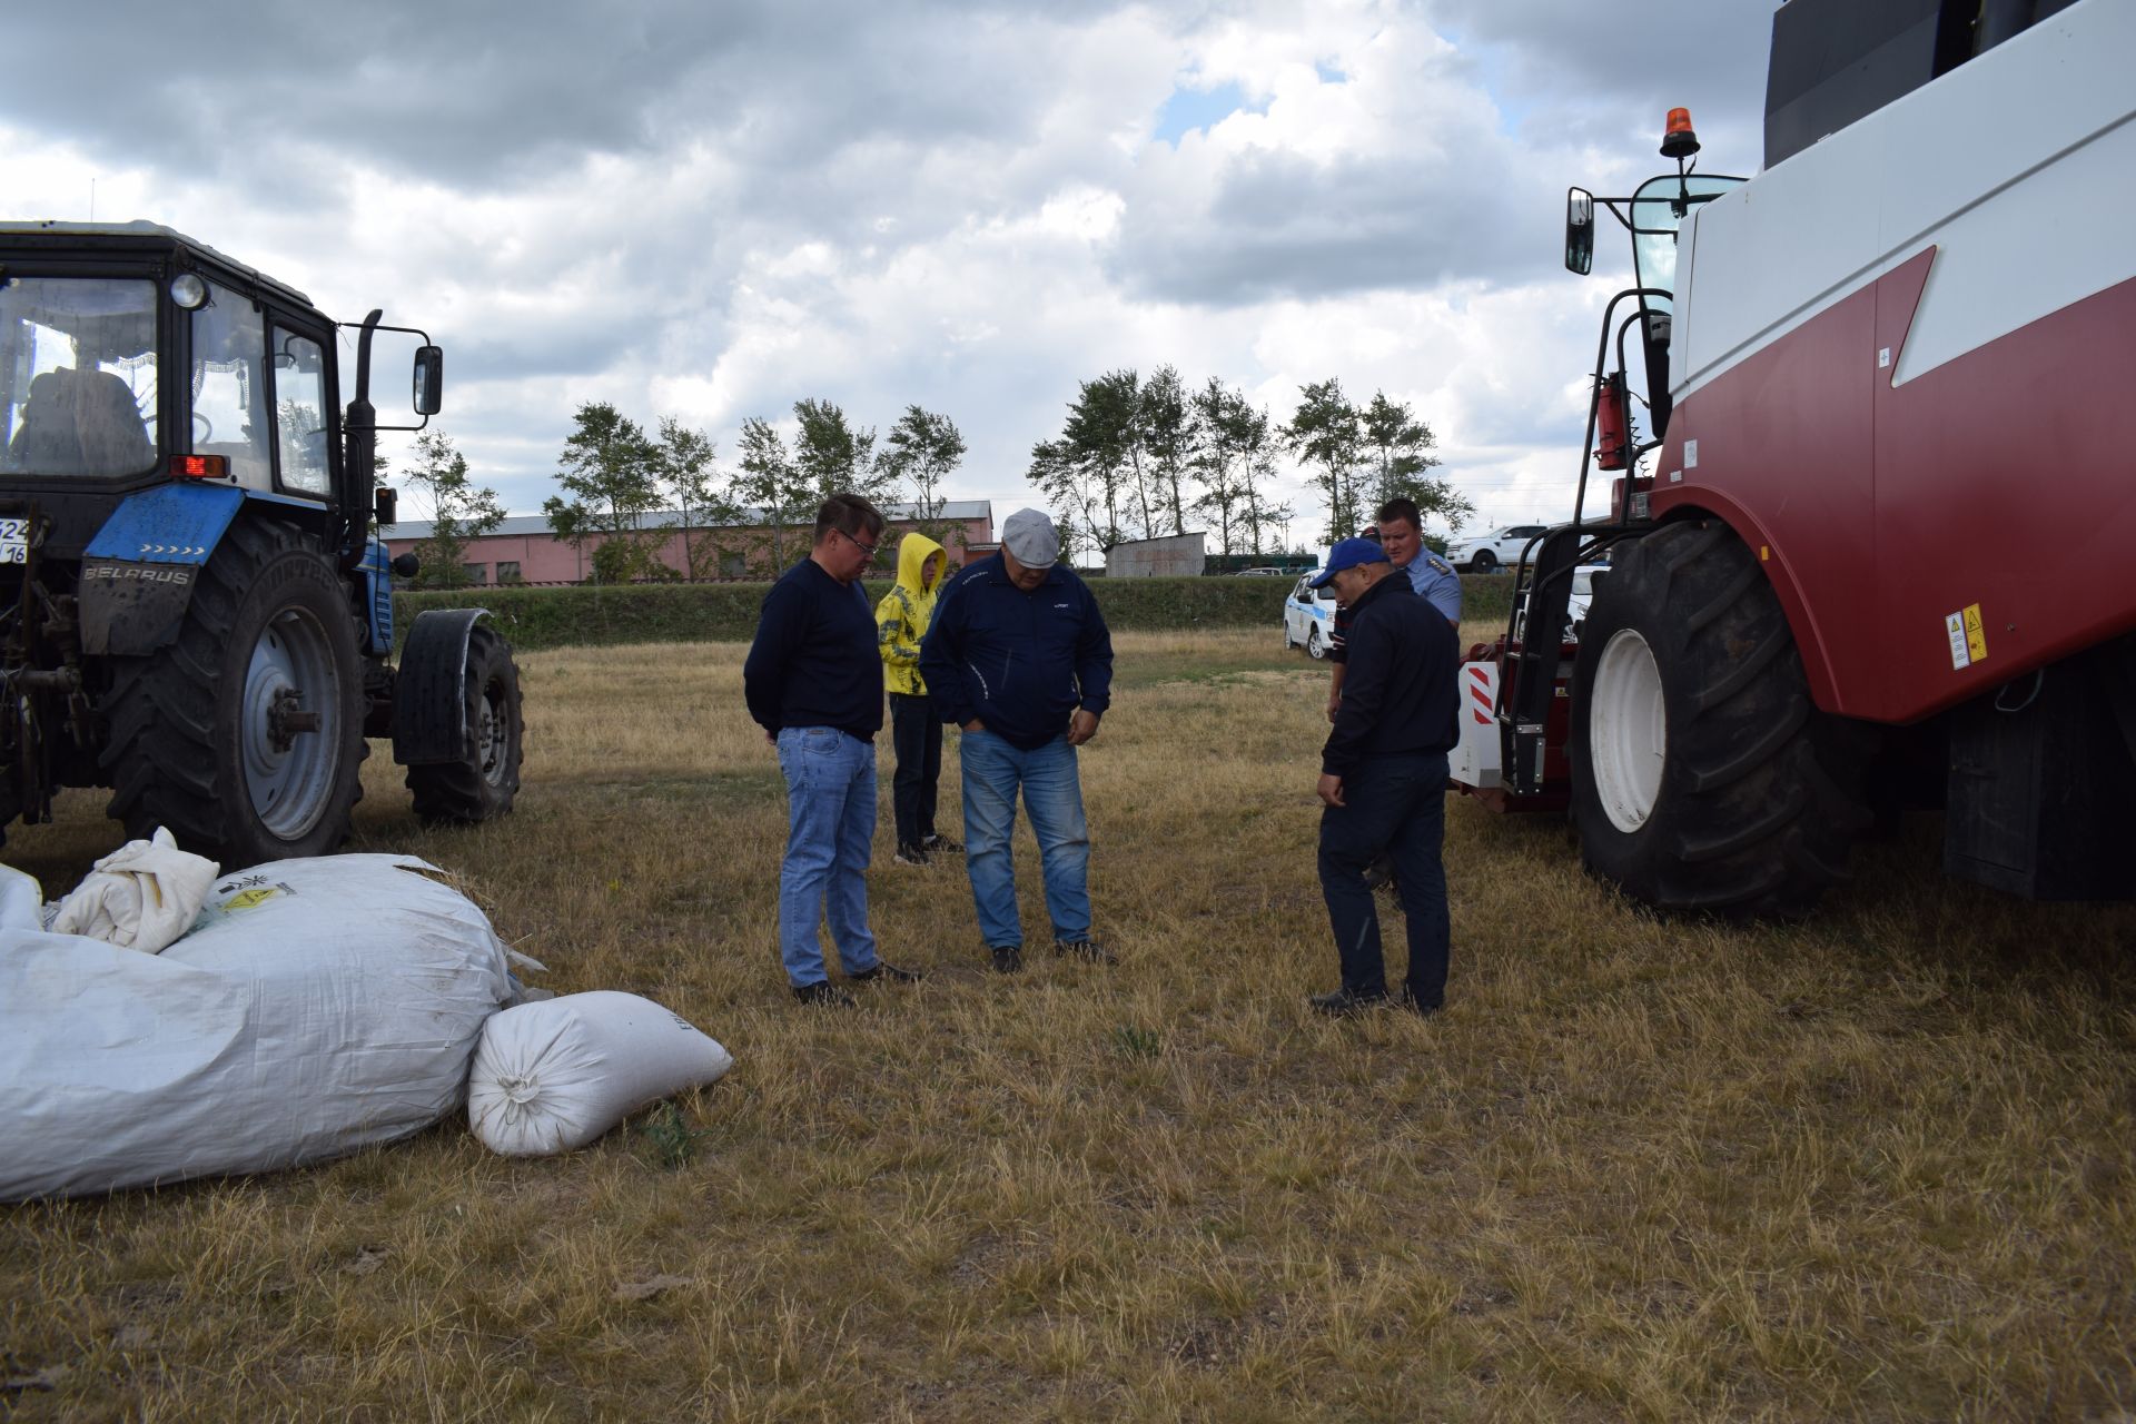
[[[874,741],[882,730],[882,658],[876,611],[859,583],[839,583],[816,559],[788,568],[765,594],[756,643],[741,664],[741,696],[767,732],[835,726]]]

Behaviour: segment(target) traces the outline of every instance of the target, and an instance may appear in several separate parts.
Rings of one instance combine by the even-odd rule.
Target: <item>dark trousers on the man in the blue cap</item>
[[[1395,858],[1401,914],[1410,922],[1410,995],[1425,1008],[1446,1001],[1446,754],[1367,758],[1344,777],[1341,807],[1320,811],[1320,897],[1341,954],[1341,984],[1354,995],[1386,993],[1380,907],[1365,867]]]

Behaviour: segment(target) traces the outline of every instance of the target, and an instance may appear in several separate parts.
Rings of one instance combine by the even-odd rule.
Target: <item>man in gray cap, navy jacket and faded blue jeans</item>
[[[1045,512],[1010,515],[1002,551],[942,589],[921,643],[921,679],[936,715],[963,728],[965,871],[995,971],[1023,967],[1008,852],[1019,788],[1038,837],[1053,952],[1113,963],[1089,937],[1089,830],[1077,777],[1077,747],[1098,734],[1111,702],[1113,636],[1098,600],[1062,568]]]

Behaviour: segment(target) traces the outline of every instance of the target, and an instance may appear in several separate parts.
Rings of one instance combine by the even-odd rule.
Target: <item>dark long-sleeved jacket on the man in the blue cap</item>
[[[1388,574],[1365,589],[1350,613],[1350,670],[1320,771],[1348,777],[1369,756],[1452,749],[1459,662],[1455,626],[1408,579]]]

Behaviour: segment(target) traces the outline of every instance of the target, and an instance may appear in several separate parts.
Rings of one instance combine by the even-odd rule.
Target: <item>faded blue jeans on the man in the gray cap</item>
[[[963,867],[972,875],[972,905],[987,946],[1023,946],[1017,871],[1008,854],[1019,786],[1032,835],[1038,837],[1053,939],[1089,939],[1089,828],[1083,824],[1074,747],[1055,737],[1025,751],[993,732],[965,732],[957,743],[957,762],[963,769]]]

